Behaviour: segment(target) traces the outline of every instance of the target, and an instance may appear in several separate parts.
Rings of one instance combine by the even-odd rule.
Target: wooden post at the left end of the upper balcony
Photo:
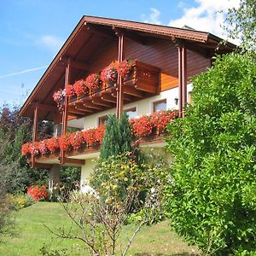
[[[65,69],[65,88],[67,88],[67,85],[70,83],[70,59],[67,60],[67,66]],[[62,128],[61,128],[61,136],[66,135],[67,133],[67,96],[64,98],[64,108],[62,112]],[[61,165],[65,163],[65,151],[61,150]]]

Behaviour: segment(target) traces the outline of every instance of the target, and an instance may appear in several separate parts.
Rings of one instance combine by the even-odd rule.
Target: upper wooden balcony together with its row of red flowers
[[[159,93],[160,68],[134,60],[113,62],[101,72],[67,85],[65,90],[55,91],[54,100],[61,109],[67,96],[68,112],[80,116],[115,108],[118,75],[123,79],[125,104]]]

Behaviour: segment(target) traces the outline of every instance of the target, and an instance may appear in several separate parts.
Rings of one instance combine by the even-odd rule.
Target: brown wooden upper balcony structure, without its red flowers
[[[124,103],[136,102],[160,93],[160,68],[133,61],[131,72],[123,81]],[[116,107],[117,84],[100,84],[100,88],[90,90],[79,98],[73,96],[68,101],[68,113],[82,117],[91,113]]]

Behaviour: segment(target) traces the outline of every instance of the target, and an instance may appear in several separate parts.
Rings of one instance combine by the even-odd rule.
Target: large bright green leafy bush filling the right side
[[[193,79],[193,105],[168,126],[172,226],[206,254],[256,250],[256,63],[218,56]]]

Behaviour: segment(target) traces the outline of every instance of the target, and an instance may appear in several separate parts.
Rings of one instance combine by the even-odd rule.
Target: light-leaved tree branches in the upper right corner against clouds
[[[256,2],[255,0],[241,0],[240,6],[229,9],[224,26],[230,38],[240,38],[241,48],[256,50]]]

